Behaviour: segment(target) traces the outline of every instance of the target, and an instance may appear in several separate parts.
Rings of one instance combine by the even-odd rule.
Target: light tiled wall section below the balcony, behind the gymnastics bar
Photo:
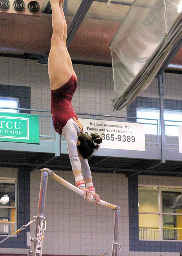
[[[72,172],[55,171],[74,184]],[[31,173],[31,216],[37,214],[40,170]],[[96,192],[101,199],[118,205],[120,210],[119,242],[128,255],[128,191],[124,174],[92,173]],[[48,179],[45,217],[47,230],[43,253],[62,255],[102,255],[113,241],[114,210],[87,203],[51,178]],[[35,225],[31,225],[34,236]],[[111,255],[111,253],[109,254]]]

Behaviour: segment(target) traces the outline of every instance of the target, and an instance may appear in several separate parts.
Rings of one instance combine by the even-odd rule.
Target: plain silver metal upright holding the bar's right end
[[[120,208],[116,205],[115,216],[114,216],[112,256],[117,256],[117,254],[118,254],[119,210],[120,210]]]

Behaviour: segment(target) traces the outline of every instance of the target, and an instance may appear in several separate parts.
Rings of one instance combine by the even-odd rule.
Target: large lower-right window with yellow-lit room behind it
[[[182,189],[139,186],[139,239],[182,240]]]

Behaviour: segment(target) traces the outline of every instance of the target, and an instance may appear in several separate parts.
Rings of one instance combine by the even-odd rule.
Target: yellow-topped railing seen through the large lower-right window
[[[139,227],[140,240],[160,240],[159,228]],[[162,228],[163,240],[182,240],[182,228]]]

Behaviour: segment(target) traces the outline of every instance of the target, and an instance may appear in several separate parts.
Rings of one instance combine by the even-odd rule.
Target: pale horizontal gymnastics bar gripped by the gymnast
[[[72,185],[71,183],[65,181],[64,179],[62,179],[61,177],[59,177],[58,175],[56,175],[52,170],[50,170],[50,169],[48,169],[48,168],[43,168],[43,169],[41,169],[41,172],[48,172],[49,176],[50,176],[53,180],[55,180],[55,181],[61,183],[63,186],[65,186],[65,187],[71,189],[72,191],[74,191],[74,192],[77,193],[77,194],[80,194],[80,195],[82,195],[82,196],[84,195],[83,190],[81,190],[81,189],[75,187],[74,185]],[[91,199],[92,199],[93,202],[95,202],[95,199],[93,198],[92,195],[91,195]],[[103,201],[103,200],[100,200],[100,204],[103,205],[103,206],[106,206],[106,207],[108,207],[108,208],[111,208],[111,209],[113,209],[113,210],[119,209],[119,207],[118,207],[117,205],[112,205],[112,204],[107,203],[107,202],[105,202],[105,201]]]

